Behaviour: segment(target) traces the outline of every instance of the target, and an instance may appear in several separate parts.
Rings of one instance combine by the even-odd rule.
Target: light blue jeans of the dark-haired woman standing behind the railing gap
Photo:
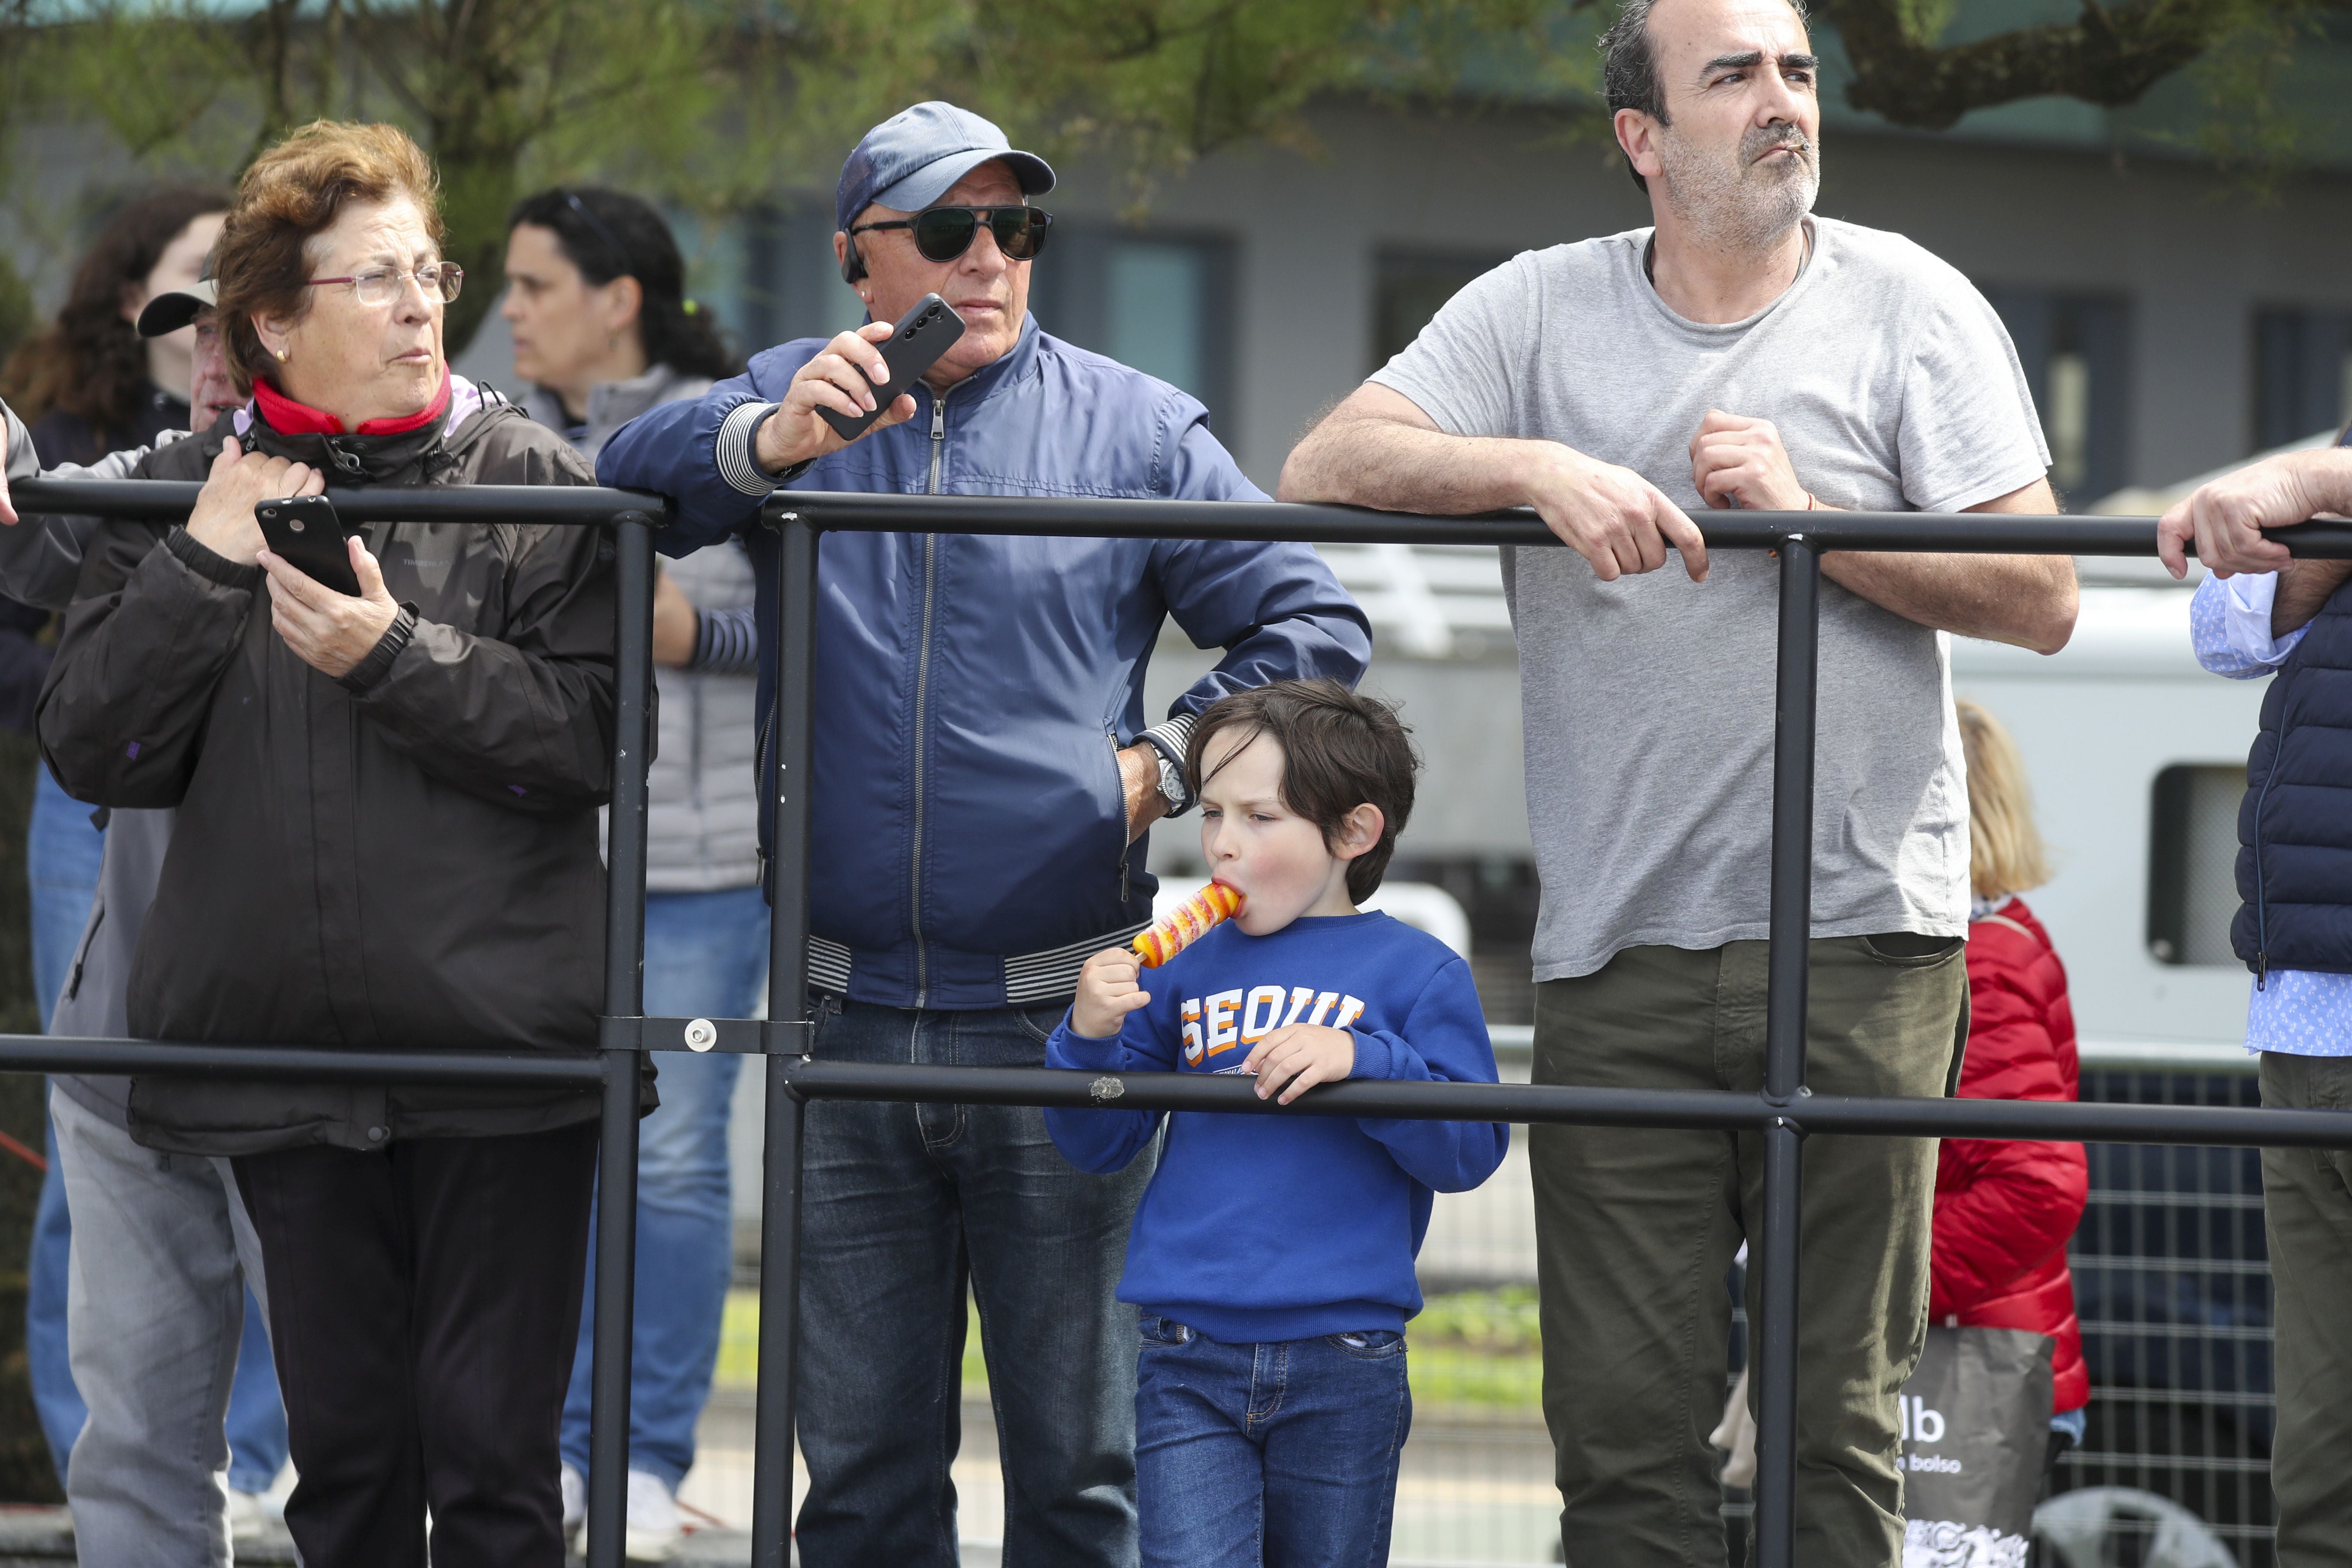
[[[748,1018],[767,987],[767,900],[760,889],[649,893],[649,1018]],[[694,1422],[710,1399],[720,1316],[734,1276],[727,1110],[741,1056],[666,1051],[661,1110],[637,1124],[637,1319],[628,1363],[628,1467],[677,1483],[694,1469]],[[595,1279],[595,1232],[588,1241]],[[564,1394],[564,1465],[588,1474],[588,1368],[595,1291]]]

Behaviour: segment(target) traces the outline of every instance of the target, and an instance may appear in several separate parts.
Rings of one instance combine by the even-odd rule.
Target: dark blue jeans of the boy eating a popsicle
[[[1414,1425],[1404,1335],[1218,1345],[1141,1314],[1145,1568],[1383,1568]]]

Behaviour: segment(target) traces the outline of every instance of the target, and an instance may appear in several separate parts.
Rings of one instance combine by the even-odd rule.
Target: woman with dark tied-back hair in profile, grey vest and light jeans
[[[586,456],[663,402],[701,397],[736,364],[684,296],[668,223],[619,190],[541,190],[506,242],[506,324],[532,418]],[[755,804],[753,639],[729,635],[753,602],[750,562],[722,543],[668,562],[654,599],[661,745],[644,865],[644,1006],[661,1018],[746,1018],[767,980]],[[708,621],[701,611],[713,614]],[[722,649],[731,649],[729,661]],[[668,1056],[661,1110],[637,1143],[637,1316],[630,1359],[628,1556],[682,1542],[677,1483],[710,1396],[734,1274],[727,1110],[741,1056]],[[583,1312],[564,1399],[564,1521],[588,1509]]]

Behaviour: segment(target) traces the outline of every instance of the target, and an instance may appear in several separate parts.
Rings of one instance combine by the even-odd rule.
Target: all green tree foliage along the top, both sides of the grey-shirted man
[[[1957,0],[1818,0],[1849,99],[1947,127],[2037,94],[2133,103],[2204,59],[2206,153],[2293,150],[2270,82],[2307,16],[2352,0],[2082,0],[2074,21],[1945,45]],[[1301,110],[1508,85],[1590,113],[1609,0],[0,0],[0,150],[35,115],[94,122],[143,165],[233,169],[313,118],[407,125],[442,172],[449,254],[496,296],[506,212],[539,183],[628,183],[706,214],[826,186],[858,132],[948,96],[1049,158],[1124,172],[1134,200],[1254,141],[1310,146]],[[1578,118],[1581,115],[1581,118]]]

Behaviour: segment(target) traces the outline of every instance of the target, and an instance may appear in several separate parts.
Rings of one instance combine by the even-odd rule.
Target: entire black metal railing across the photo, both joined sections
[[[181,517],[195,484],[19,484],[21,512]],[[1181,1074],[913,1067],[816,1060],[807,987],[809,778],[814,752],[816,569],[823,531],[938,531],[1037,536],[1150,536],[1237,541],[1392,541],[1557,545],[1531,515],[1406,517],[1355,508],[1185,501],[1033,501],[995,496],[779,494],[767,524],[781,531],[776,625],[779,682],[767,809],[774,844],[769,1018],[644,1018],[644,764],[652,689],[652,545],[661,501],[609,489],[475,487],[329,491],[350,522],[557,522],[612,527],[619,548],[619,703],[614,722],[612,900],[604,1018],[595,1053],[459,1056],[435,1051],[318,1051],[129,1039],[0,1037],[9,1072],[198,1072],[336,1077],[367,1081],[513,1081],[602,1086],[597,1197],[590,1568],[619,1568],[628,1465],[628,1361],[635,1281],[635,1154],[640,1051],[743,1051],[767,1063],[767,1159],[760,1258],[760,1387],[753,1490],[753,1563],[790,1561],[793,1410],[800,1331],[802,1131],[811,1098],[1101,1105],[1247,1114],[1411,1117],[1446,1121],[1606,1124],[1759,1131],[1766,1147],[1759,1392],[1757,1561],[1795,1568],[1795,1375],[1799,1147],[1809,1133],[1915,1138],[2089,1138],[2187,1145],[2352,1145],[2336,1112],[2199,1105],[2058,1105],[2004,1100],[1900,1100],[1813,1095],[1804,1088],[1804,987],[1811,903],[1813,691],[1818,670],[1820,555],[1828,550],[1952,550],[1994,555],[2152,555],[2150,520],[1940,517],[1915,512],[1705,515],[1712,550],[1780,557],[1780,663],[1773,750],[1771,971],[1766,1074],[1755,1095],[1531,1084],[1329,1084],[1296,1105],[1258,1100],[1249,1084]],[[2305,524],[2281,534],[2298,555],[2352,557],[2352,527]]]

